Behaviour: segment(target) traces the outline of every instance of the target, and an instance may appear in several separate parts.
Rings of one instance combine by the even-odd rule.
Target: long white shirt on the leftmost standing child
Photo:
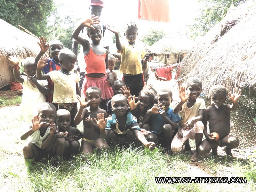
[[[45,102],[44,93],[40,92],[36,85],[28,81],[27,76],[21,76],[24,79],[22,83],[23,93],[21,99],[21,113],[24,115],[37,115],[38,106]],[[47,80],[37,80],[42,85],[48,85]]]

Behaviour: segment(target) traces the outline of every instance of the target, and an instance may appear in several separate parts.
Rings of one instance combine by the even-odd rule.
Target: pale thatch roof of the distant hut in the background
[[[180,54],[188,53],[195,45],[195,41],[185,37],[174,38],[166,35],[150,48],[155,50],[157,54]]]

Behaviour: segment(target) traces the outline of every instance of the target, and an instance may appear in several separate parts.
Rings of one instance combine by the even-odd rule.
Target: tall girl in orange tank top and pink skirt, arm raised
[[[100,108],[107,110],[107,99],[113,97],[114,93],[111,86],[114,83],[113,74],[108,69],[108,50],[100,45],[102,38],[102,31],[98,17],[91,16],[82,22],[73,32],[72,37],[77,43],[83,46],[84,60],[85,60],[85,78],[82,86],[82,94],[85,97],[86,90],[89,87],[99,87],[102,92],[102,100],[100,101]],[[87,35],[92,40],[90,43],[87,39],[79,36],[80,31],[87,27]],[[106,75],[107,74],[107,75]]]

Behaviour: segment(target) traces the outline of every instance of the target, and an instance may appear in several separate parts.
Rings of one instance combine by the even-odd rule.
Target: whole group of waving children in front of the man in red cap
[[[142,144],[150,150],[161,145],[166,154],[172,155],[172,152],[179,152],[183,145],[185,150],[190,151],[188,139],[195,139],[192,161],[198,161],[199,154],[208,153],[211,149],[217,155],[218,146],[227,146],[225,152],[232,155],[231,149],[239,145],[239,140],[229,135],[229,111],[237,108],[240,90],[235,88],[232,94],[229,93],[232,105],[224,105],[226,89],[220,85],[213,86],[209,92],[212,106],[205,108],[204,100],[198,98],[202,82],[198,78],[190,78],[186,87],[179,90],[180,103],[171,108],[173,99],[170,89],[156,92],[151,86],[144,86],[142,68],[145,68],[148,54],[135,44],[137,25],[133,22],[127,24],[124,34],[127,44],[124,45],[120,43],[118,32],[106,27],[116,35],[116,48],[121,52],[121,81],[117,80],[113,71],[115,58],[100,46],[102,31],[98,23],[98,17],[92,15],[72,34],[82,44],[86,62],[82,92],[77,84],[79,77],[71,72],[76,55],[64,49],[57,40],[48,44],[43,36],[40,38],[38,44],[41,51],[36,58],[23,60],[27,76],[19,74],[19,58],[9,57],[14,65],[14,77],[24,88],[22,108],[30,111],[23,113],[30,124],[29,130],[21,136],[22,140],[30,137],[23,148],[26,164],[46,156],[70,158],[80,150],[83,153],[90,153],[93,148],[108,150],[112,142],[125,147]],[[79,36],[84,27],[87,27],[92,43]],[[47,50],[52,59],[42,57]],[[77,102],[80,103],[79,108]],[[36,116],[28,105],[38,106]],[[76,129],[81,121],[84,133]],[[207,121],[210,133],[207,133]],[[220,139],[216,141],[212,138],[212,132],[217,132]],[[203,133],[206,139],[202,142]],[[78,140],[81,138],[80,148]]]

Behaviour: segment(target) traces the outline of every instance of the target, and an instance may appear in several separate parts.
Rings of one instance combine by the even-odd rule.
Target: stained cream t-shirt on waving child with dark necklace
[[[51,71],[48,73],[53,81],[53,103],[77,103],[76,84],[80,78],[76,73],[65,75],[60,71]]]

